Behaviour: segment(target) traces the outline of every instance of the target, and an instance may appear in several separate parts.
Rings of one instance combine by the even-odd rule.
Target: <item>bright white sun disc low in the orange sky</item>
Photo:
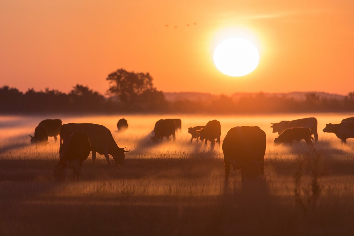
[[[227,39],[214,51],[214,64],[225,75],[247,75],[256,69],[258,62],[257,48],[246,39]]]

